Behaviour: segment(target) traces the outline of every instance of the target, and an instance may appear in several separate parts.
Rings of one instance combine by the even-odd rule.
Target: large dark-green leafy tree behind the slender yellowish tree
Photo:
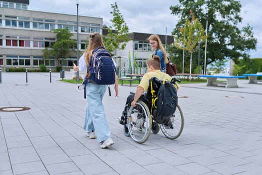
[[[246,59],[250,56],[249,51],[256,49],[258,41],[249,24],[242,29],[238,27],[242,22],[241,7],[238,0],[179,0],[177,5],[170,6],[171,13],[180,18],[172,34],[180,32],[178,28],[183,26],[189,16],[188,10],[192,9],[205,28],[208,21],[207,64],[217,59],[231,58],[235,62],[240,57]],[[181,60],[181,50],[170,50],[174,51],[173,55],[180,55],[177,59]],[[205,48],[202,47],[200,52],[203,65]]]

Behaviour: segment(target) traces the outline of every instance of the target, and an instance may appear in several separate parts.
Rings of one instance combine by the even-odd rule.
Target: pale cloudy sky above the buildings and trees
[[[170,6],[178,0],[78,0],[78,14],[102,17],[103,24],[112,25],[111,4],[117,2],[129,32],[171,35],[178,22],[178,16],[171,14]],[[243,18],[239,27],[250,24],[258,39],[257,50],[251,50],[252,58],[262,57],[262,0],[240,0]],[[76,0],[29,0],[29,10],[67,13],[76,15]],[[205,27],[204,27],[205,28]],[[208,49],[208,48],[207,48]]]

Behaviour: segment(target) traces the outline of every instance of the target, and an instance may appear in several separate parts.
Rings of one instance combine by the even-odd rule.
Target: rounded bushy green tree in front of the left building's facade
[[[54,57],[56,65],[61,65],[63,59],[71,57],[70,53],[75,54],[76,40],[70,38],[73,34],[70,33],[68,26],[65,29],[51,29],[51,31],[56,33],[56,41],[51,45],[51,49],[42,50],[43,56],[44,58]]]

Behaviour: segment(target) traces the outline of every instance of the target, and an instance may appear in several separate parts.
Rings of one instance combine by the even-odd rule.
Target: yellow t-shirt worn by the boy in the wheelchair
[[[140,83],[138,84],[138,87],[142,87],[144,89],[144,92],[147,91],[148,89],[148,85],[149,85],[149,81],[152,77],[156,77],[159,80],[168,80],[170,81],[172,79],[171,76],[169,76],[169,74],[164,73],[160,70],[157,71],[150,71],[144,74],[144,76],[142,77]],[[176,83],[176,89],[179,88],[179,85]]]

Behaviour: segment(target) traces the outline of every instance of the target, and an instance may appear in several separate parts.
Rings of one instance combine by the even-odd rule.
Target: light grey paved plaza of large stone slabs
[[[139,144],[116,121],[130,91],[106,91],[104,108],[115,144],[106,149],[82,129],[87,100],[79,84],[59,73],[2,72],[0,175],[6,174],[262,174],[262,84],[238,80],[238,88],[181,84],[179,104],[185,125],[171,140],[151,132]],[[83,77],[84,73],[80,73]],[[71,79],[73,72],[65,72]],[[182,98],[183,96],[186,96]]]

